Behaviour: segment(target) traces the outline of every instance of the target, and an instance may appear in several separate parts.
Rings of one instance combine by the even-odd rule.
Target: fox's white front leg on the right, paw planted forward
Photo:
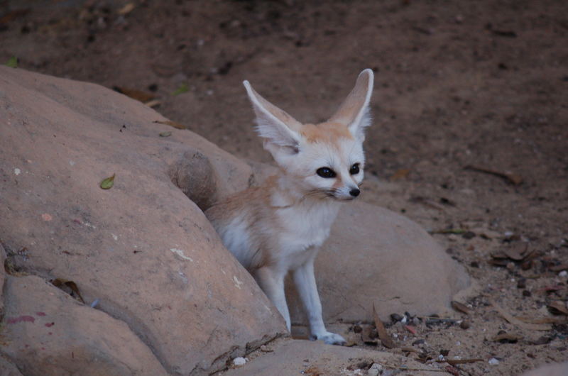
[[[310,321],[310,339],[322,340],[329,345],[343,345],[345,339],[339,334],[331,333],[325,329],[322,318],[322,303],[317,293],[314,275],[313,258],[301,265],[293,272],[294,282],[300,299],[304,304],[307,318]]]

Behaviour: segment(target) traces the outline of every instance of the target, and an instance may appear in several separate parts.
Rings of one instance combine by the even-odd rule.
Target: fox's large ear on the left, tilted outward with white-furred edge
[[[269,143],[288,148],[293,153],[297,153],[302,124],[260,96],[248,81],[244,81],[243,84],[253,104],[258,134],[262,138],[266,138]]]

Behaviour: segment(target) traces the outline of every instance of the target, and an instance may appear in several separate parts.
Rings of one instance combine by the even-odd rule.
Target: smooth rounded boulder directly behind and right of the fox
[[[469,287],[464,267],[422,227],[388,209],[345,204],[315,262],[324,320],[372,321],[405,311],[442,314]],[[293,292],[293,289],[291,289]],[[295,294],[290,315],[305,322]]]

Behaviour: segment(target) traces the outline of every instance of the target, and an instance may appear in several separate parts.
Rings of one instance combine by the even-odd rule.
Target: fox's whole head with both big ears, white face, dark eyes
[[[359,196],[365,157],[364,130],[371,124],[368,104],[373,71],[359,74],[354,89],[328,121],[302,124],[244,82],[256,113],[264,148],[294,180],[303,195],[349,200]]]

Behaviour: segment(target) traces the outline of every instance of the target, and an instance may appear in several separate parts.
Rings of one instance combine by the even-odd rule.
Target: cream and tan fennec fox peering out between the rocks
[[[291,271],[310,321],[310,338],[343,344],[342,336],[324,326],[314,259],[342,201],[360,193],[373,71],[361,72],[337,112],[320,124],[299,123],[258,95],[248,81],[244,87],[256,114],[256,131],[280,169],[260,187],[239,192],[205,214],[280,311],[288,331],[284,277]]]

